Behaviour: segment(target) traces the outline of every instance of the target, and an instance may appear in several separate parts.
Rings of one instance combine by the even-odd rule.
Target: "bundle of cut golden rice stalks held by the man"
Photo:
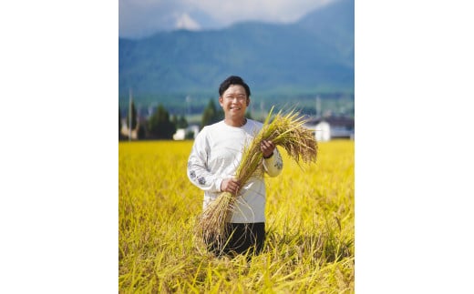
[[[283,115],[280,110],[270,122],[273,107],[263,122],[260,132],[252,139],[249,146],[244,147],[242,161],[237,167],[236,179],[242,185],[254,173],[263,173],[263,154],[260,143],[263,139],[271,140],[275,146],[283,147],[288,156],[300,164],[312,163],[317,157],[317,142],[311,130],[304,127],[305,120],[299,113],[292,110]],[[234,209],[237,195],[222,192],[202,212],[197,222],[197,231],[205,240],[214,242],[217,248],[223,248],[227,238],[225,223],[229,220]]]

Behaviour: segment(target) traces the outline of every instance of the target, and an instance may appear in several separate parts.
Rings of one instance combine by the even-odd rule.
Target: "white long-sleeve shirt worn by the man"
[[[235,177],[243,147],[252,142],[262,127],[262,123],[247,119],[242,127],[231,127],[221,121],[202,128],[188,160],[188,177],[204,190],[203,208],[222,193],[222,179]],[[276,177],[282,168],[282,157],[275,148],[272,157],[263,159],[264,172]],[[265,194],[263,174],[255,173],[239,190],[231,222],[264,222]]]

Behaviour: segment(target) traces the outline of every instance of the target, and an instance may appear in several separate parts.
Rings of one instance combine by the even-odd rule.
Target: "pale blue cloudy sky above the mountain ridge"
[[[336,0],[118,0],[118,34],[142,37],[160,30],[222,28],[258,20],[291,23]]]

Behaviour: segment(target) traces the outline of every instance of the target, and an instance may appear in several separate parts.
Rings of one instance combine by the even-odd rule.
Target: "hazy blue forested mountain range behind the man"
[[[354,95],[354,0],[339,0],[293,24],[246,22],[223,29],[118,38],[119,103],[217,96],[242,76],[252,96]]]

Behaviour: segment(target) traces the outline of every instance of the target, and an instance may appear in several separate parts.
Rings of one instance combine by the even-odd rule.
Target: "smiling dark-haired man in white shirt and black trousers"
[[[203,208],[222,192],[237,194],[235,208],[226,224],[230,236],[224,248],[205,239],[216,255],[249,253],[259,254],[265,239],[265,184],[263,173],[256,173],[246,183],[235,179],[242,160],[243,147],[252,142],[263,127],[261,122],[247,119],[250,105],[250,87],[240,76],[229,76],[219,87],[219,104],[225,117],[211,126],[203,127],[194,140],[188,160],[191,183],[204,191]],[[272,141],[261,142],[263,170],[270,177],[282,172],[283,160]]]

